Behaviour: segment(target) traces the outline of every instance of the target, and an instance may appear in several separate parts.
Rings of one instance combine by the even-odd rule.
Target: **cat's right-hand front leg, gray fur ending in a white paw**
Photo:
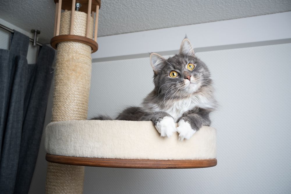
[[[203,125],[210,125],[209,111],[196,109],[184,113],[177,127],[179,140],[190,139]]]

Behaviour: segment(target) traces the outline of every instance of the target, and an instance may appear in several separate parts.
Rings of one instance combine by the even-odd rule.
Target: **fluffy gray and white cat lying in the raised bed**
[[[152,121],[161,136],[179,133],[179,139],[189,139],[203,125],[210,125],[209,113],[215,110],[210,72],[187,38],[178,55],[164,59],[152,53],[155,88],[143,100],[141,107],[129,107],[116,120]],[[96,120],[111,120],[100,116]],[[175,122],[178,122],[176,128]]]

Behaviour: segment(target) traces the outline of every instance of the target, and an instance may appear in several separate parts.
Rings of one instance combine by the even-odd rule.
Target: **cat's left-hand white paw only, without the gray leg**
[[[162,120],[157,122],[157,125],[155,127],[162,137],[165,136],[170,137],[173,134],[173,132],[176,131],[174,119],[168,116],[164,117]]]

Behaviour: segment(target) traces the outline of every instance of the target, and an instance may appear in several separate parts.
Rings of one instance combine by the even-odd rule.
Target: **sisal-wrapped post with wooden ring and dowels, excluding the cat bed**
[[[86,120],[91,53],[98,49],[96,39],[92,40],[94,19],[91,12],[97,12],[95,8],[100,7],[100,0],[54,1],[56,24],[51,45],[56,48],[57,55],[52,122]],[[79,11],[75,11],[75,3],[79,3]],[[61,13],[61,9],[65,11]],[[46,193],[83,193],[83,182],[84,166],[48,163]]]

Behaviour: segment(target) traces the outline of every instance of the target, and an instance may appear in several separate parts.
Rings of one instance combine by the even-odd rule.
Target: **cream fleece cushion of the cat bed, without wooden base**
[[[45,149],[60,156],[112,159],[214,159],[216,130],[203,126],[189,140],[161,137],[151,121],[72,120],[52,122]]]

